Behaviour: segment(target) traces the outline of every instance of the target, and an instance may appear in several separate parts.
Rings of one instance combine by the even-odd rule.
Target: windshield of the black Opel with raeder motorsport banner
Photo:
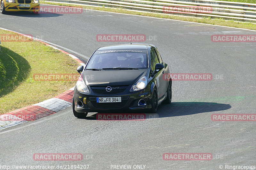
[[[86,69],[146,69],[148,55],[146,49],[119,49],[95,51]]]

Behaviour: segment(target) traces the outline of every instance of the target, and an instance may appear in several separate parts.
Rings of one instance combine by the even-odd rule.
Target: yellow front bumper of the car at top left
[[[39,11],[39,8],[40,8],[39,3],[33,4],[33,1],[31,1],[31,3],[28,3],[26,5],[30,5],[30,7],[20,7],[19,3],[9,3],[9,2],[6,2],[6,0],[4,0],[5,11],[32,11],[32,12]]]

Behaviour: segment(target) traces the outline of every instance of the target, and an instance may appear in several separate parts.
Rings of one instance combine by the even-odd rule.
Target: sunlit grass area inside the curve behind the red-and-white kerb
[[[1,30],[0,34],[15,34]],[[0,51],[0,115],[50,99],[76,81],[35,81],[34,74],[75,73],[79,63],[38,41],[3,42]]]

